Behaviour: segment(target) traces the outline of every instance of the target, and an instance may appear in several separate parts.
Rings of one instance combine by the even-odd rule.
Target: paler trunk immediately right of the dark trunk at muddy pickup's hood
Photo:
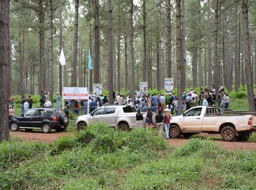
[[[186,50],[185,50],[185,0],[182,0],[181,8],[181,89],[186,87]],[[194,79],[193,79],[194,80]]]

